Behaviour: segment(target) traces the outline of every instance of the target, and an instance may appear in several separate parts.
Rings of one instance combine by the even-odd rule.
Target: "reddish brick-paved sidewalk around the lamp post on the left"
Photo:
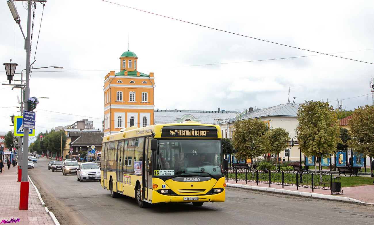
[[[29,196],[28,196],[28,210],[19,210],[19,193],[21,182],[17,182],[18,167],[10,166],[3,168],[0,173],[0,223],[3,220],[10,221],[11,219],[19,222],[9,222],[9,224],[17,225],[55,225],[49,213],[39,200],[34,186],[30,182]]]

